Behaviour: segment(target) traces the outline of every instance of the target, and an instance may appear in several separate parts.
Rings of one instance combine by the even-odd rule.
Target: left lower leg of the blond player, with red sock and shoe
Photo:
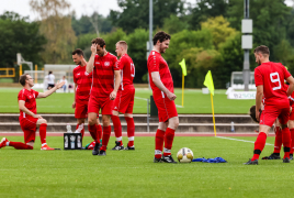
[[[120,116],[118,111],[112,111],[111,119],[113,122],[114,134],[116,138],[115,146],[112,150],[116,151],[124,150],[123,136],[122,136],[122,123],[118,116]]]

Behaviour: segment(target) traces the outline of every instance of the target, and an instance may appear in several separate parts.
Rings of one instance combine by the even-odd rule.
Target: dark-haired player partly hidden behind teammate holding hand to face
[[[88,102],[90,98],[90,89],[92,86],[92,73],[88,74],[86,72],[87,62],[83,58],[83,52],[77,48],[72,53],[72,59],[78,65],[74,72],[74,82],[75,82],[75,101],[72,108],[75,110],[75,118],[77,119],[76,132],[80,132],[83,139],[84,134],[84,119],[88,117]],[[99,142],[102,136],[102,128],[97,119],[97,132],[90,132],[94,141]]]

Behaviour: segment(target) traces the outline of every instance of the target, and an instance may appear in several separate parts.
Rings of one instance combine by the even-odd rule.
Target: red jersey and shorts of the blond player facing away
[[[121,113],[133,113],[135,87],[133,79],[135,77],[135,65],[133,59],[124,54],[118,61],[121,69],[122,82],[114,100],[114,111]]]

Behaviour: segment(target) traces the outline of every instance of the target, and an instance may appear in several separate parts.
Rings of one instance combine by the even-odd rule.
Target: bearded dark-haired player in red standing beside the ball
[[[158,32],[152,41],[154,50],[149,54],[147,67],[159,118],[159,125],[155,138],[154,162],[177,163],[171,156],[174,131],[179,127],[178,112],[173,101],[177,96],[173,94],[173,81],[169,66],[161,56],[169,47],[170,35],[165,32]]]

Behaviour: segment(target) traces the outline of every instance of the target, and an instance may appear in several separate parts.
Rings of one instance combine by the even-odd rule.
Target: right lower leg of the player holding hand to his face
[[[110,120],[111,120],[110,114],[102,114],[103,134],[102,134],[102,146],[100,147],[99,155],[106,155],[106,147],[111,135]]]

